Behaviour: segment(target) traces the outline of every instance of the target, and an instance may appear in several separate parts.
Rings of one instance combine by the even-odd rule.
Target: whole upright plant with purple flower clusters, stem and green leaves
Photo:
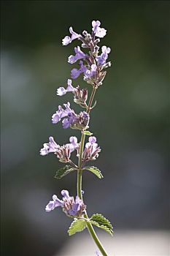
[[[111,62],[107,61],[111,49],[105,45],[102,47],[98,46],[100,39],[107,34],[107,30],[101,28],[101,23],[98,20],[92,21],[91,33],[82,31],[82,34],[78,34],[74,32],[72,27],[69,28],[69,32],[71,35],[64,37],[62,44],[69,45],[75,39],[80,42],[80,45],[74,48],[74,53],[68,59],[69,64],[77,63],[78,68],[74,67],[72,69],[72,79],[69,78],[65,86],[59,87],[56,94],[61,97],[67,93],[72,93],[73,103],[72,106],[70,102],[63,103],[63,106],[59,105],[58,110],[53,113],[52,123],[56,125],[61,121],[63,129],[80,130],[81,138],[78,139],[72,136],[69,138],[68,143],[59,145],[57,140],[55,141],[50,136],[49,141],[44,143],[43,148],[40,150],[40,154],[45,156],[52,153],[60,162],[65,164],[56,172],[55,178],[61,179],[72,172],[77,172],[77,194],[75,197],[70,196],[69,192],[63,189],[61,196],[52,196],[52,199],[45,207],[45,211],[50,212],[55,208],[61,207],[63,213],[73,219],[68,230],[69,236],[87,228],[98,247],[96,254],[99,255],[100,251],[102,255],[107,256],[107,252],[99,241],[93,226],[104,229],[112,235],[112,225],[101,214],[88,216],[88,206],[83,200],[82,173],[86,174],[86,170],[88,170],[95,174],[96,177],[103,178],[98,167],[89,165],[91,161],[98,158],[101,152],[96,137],[89,131],[89,122],[90,111],[96,106],[96,102],[93,104],[96,91],[97,89],[102,90],[101,85],[107,74],[106,69],[111,66]],[[75,80],[80,75],[88,83],[85,89],[82,89],[79,85],[74,86],[72,84],[72,80]],[[82,108],[80,113],[74,111],[74,103]],[[88,136],[88,141],[85,143],[86,136]],[[77,162],[72,162],[73,151],[77,154]],[[78,255],[80,255],[80,252],[78,252]]]

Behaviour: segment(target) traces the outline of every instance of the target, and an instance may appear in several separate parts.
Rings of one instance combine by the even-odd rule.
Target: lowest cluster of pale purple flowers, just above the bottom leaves
[[[63,195],[62,200],[58,199],[56,195],[53,195],[53,200],[47,204],[45,211],[49,212],[61,206],[69,217],[81,217],[84,214],[86,206],[78,196],[74,200],[74,197],[69,196],[67,190],[62,190],[61,195]]]

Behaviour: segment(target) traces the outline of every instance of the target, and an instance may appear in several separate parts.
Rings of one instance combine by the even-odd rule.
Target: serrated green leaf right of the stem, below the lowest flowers
[[[104,229],[105,231],[107,231],[107,233],[109,233],[112,236],[113,227],[109,220],[103,217],[103,215],[93,214],[93,216],[90,218],[90,223]]]

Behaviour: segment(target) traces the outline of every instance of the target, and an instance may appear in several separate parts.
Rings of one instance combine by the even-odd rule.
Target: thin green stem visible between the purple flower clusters
[[[96,86],[93,87],[93,91],[90,96],[87,113],[90,113],[90,108],[93,102],[94,95],[96,93]],[[82,199],[82,152],[84,149],[85,144],[85,134],[82,130],[82,138],[80,142],[80,155],[79,155],[79,170],[77,171],[77,195]],[[88,214],[85,212],[84,217],[88,219]],[[101,251],[103,256],[107,256],[107,252],[105,251],[104,247],[102,246],[101,242],[98,239],[98,236],[96,235],[95,230],[93,229],[93,226],[90,222],[87,222],[88,232],[90,233],[90,236],[93,238],[93,241],[96,243],[96,246],[98,246],[98,249]]]

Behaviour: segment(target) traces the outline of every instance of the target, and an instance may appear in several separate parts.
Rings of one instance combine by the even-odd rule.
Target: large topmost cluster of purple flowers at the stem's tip
[[[102,84],[102,80],[106,75],[107,67],[111,66],[111,62],[107,62],[108,54],[110,53],[111,49],[107,46],[102,46],[101,48],[101,55],[99,55],[99,46],[98,42],[100,42],[99,38],[104,37],[107,34],[107,30],[100,27],[101,23],[98,20],[92,21],[92,33],[89,34],[87,31],[83,31],[82,35],[77,34],[73,31],[72,27],[70,27],[69,31],[72,34],[71,37],[66,36],[63,38],[62,43],[63,45],[69,45],[74,39],[79,39],[82,41],[82,48],[89,48],[89,54],[84,53],[80,46],[74,48],[75,55],[69,56],[69,64],[74,64],[76,61],[79,61],[80,68],[74,68],[71,71],[71,78],[76,79],[79,77],[80,74],[83,73],[84,80],[87,83],[92,85],[99,86]],[[99,38],[96,38],[99,37]],[[61,89],[59,90],[61,91]]]

